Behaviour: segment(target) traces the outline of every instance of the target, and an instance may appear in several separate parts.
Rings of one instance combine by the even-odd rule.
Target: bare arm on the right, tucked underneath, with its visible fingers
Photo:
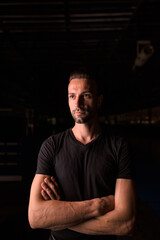
[[[48,179],[46,183],[42,184],[42,188],[44,199],[54,199],[58,196],[58,185],[55,181],[52,182]],[[111,205],[112,201],[110,201]],[[81,224],[70,227],[70,229],[93,235],[131,235],[136,218],[136,191],[132,180],[117,180],[115,208],[113,210],[112,205],[110,210],[112,211],[107,211],[103,216],[89,219]]]

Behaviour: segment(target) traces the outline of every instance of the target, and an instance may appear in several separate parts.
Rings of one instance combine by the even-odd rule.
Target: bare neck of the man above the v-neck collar
[[[92,124],[75,123],[75,126],[72,128],[72,132],[78,141],[82,142],[83,144],[87,144],[99,135],[100,125],[98,122]]]

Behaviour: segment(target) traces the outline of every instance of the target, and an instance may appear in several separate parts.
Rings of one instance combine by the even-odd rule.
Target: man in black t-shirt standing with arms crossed
[[[103,100],[95,79],[74,72],[68,84],[72,129],[44,141],[29,202],[32,228],[50,239],[116,239],[131,235],[136,197],[128,146],[98,121]]]

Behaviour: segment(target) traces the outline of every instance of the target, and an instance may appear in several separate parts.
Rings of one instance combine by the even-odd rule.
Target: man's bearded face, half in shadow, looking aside
[[[96,83],[86,78],[72,79],[68,85],[68,102],[76,123],[94,119],[100,106]]]

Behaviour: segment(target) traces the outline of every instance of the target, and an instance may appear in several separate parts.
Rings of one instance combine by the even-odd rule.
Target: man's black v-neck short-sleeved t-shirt
[[[121,137],[102,132],[84,145],[67,129],[43,142],[36,173],[55,177],[62,200],[81,201],[114,194],[117,178],[132,178],[132,161],[128,144]],[[67,229],[52,231],[51,235],[58,240],[113,237],[89,236]]]

